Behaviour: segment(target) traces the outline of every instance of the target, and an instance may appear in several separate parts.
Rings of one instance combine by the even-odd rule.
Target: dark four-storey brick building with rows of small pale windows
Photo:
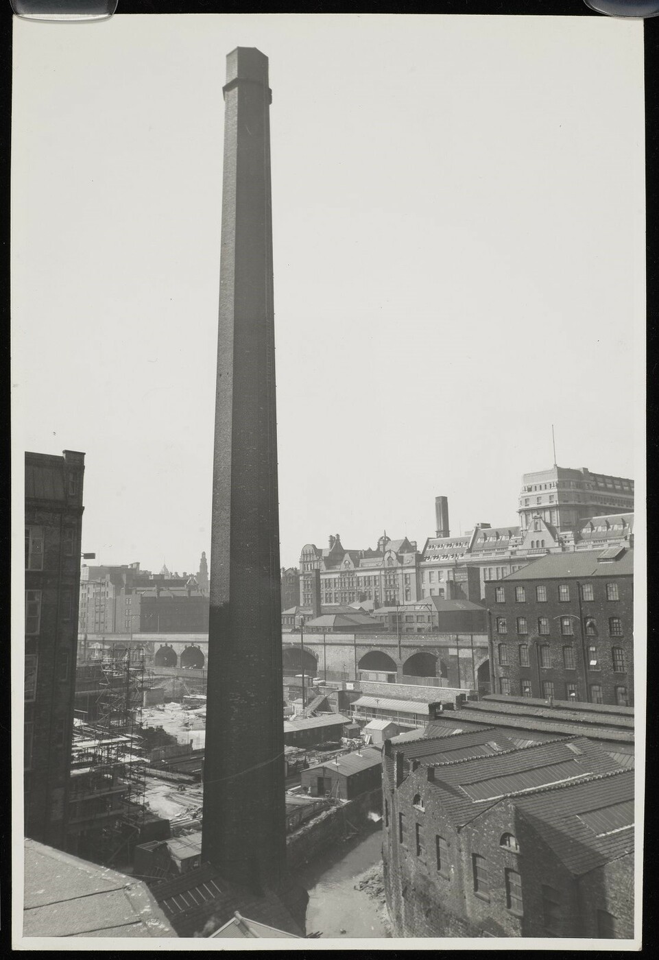
[[[486,603],[497,693],[633,705],[633,550],[550,554]]]

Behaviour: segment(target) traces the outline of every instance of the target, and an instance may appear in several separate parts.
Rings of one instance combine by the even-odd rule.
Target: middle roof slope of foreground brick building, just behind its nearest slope
[[[576,752],[574,752],[575,748]],[[510,753],[450,760],[434,766],[428,787],[441,791],[442,806],[456,826],[483,809],[524,791],[620,770],[596,743],[585,737],[552,740]]]

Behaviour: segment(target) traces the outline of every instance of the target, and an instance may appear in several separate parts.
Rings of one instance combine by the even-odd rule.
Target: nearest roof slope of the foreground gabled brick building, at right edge
[[[516,799],[515,806],[579,876],[633,852],[633,800],[633,771],[622,770]]]

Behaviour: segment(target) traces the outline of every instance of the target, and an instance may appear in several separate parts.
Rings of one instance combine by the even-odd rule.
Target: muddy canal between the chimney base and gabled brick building
[[[306,864],[298,876],[309,895],[306,931],[322,937],[389,937],[378,900],[355,890],[357,878],[381,860],[382,830],[364,830]]]

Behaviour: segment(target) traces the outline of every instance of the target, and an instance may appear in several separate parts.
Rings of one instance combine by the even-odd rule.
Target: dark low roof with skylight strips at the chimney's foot
[[[155,885],[152,892],[180,937],[209,936],[236,910],[258,923],[304,935],[277,894],[267,890],[258,897],[220,876],[209,863]]]

